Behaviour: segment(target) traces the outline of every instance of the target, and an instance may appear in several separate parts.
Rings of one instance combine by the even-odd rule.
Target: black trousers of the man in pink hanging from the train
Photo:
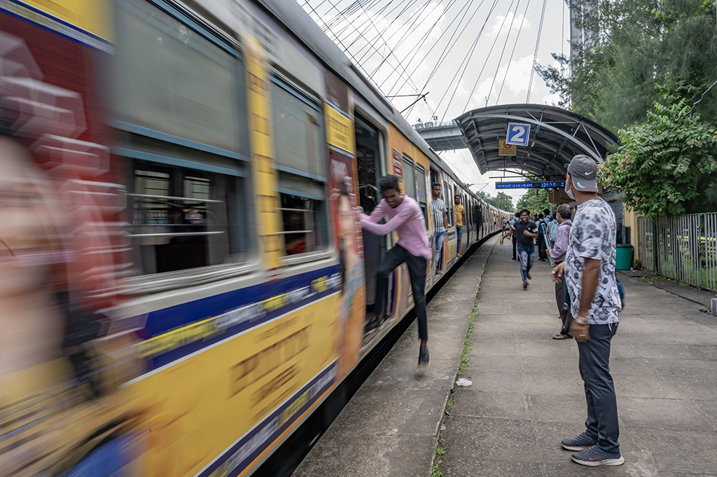
[[[418,320],[418,337],[428,339],[428,323],[426,315],[426,259],[412,255],[401,245],[394,245],[386,252],[376,273],[376,312],[386,314],[386,302],[389,296],[389,276],[402,263],[408,266],[413,290],[413,302],[416,305],[416,318]]]

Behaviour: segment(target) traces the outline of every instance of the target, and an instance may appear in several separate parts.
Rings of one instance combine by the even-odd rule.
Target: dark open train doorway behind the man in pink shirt
[[[378,128],[356,113],[356,164],[359,169],[359,202],[366,214],[371,214],[381,202],[379,179],[381,177],[381,133]],[[376,271],[386,250],[385,237],[364,230],[364,266],[366,268],[366,316],[375,316]],[[391,293],[389,293],[389,297]],[[371,321],[366,323],[371,327]]]

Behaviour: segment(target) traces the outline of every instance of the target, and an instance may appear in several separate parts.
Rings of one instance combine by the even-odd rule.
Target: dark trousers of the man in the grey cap
[[[615,387],[610,376],[610,341],[617,324],[590,325],[590,339],[578,343],[580,376],[585,383],[585,433],[603,452],[618,453],[619,426]]]

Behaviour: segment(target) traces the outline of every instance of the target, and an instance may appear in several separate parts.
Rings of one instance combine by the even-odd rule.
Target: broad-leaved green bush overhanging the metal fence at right
[[[650,217],[691,212],[695,202],[709,200],[701,192],[714,189],[717,178],[717,130],[691,110],[695,88],[656,90],[660,100],[647,120],[619,131],[622,146],[599,171],[627,207]]]

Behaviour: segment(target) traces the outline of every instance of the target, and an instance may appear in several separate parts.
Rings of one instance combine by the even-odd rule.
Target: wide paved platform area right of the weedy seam
[[[625,464],[579,466],[559,443],[584,430],[577,346],[552,339],[560,323],[549,263],[536,263],[523,291],[511,255],[508,242],[495,245],[486,265],[465,372],[473,385],[451,396],[442,476],[717,476],[717,318],[619,277],[626,306],[610,367]]]

